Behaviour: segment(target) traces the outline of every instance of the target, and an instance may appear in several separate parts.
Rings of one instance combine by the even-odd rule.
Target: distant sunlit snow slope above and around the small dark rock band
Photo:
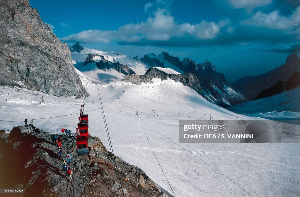
[[[131,59],[128,56],[118,53],[118,52],[103,52],[95,49],[84,48],[80,53],[72,52],[72,60],[76,62],[84,62],[87,54],[98,54],[103,55],[110,62],[120,62],[121,64],[128,65],[132,70],[137,74],[145,74],[149,69],[149,66],[145,65],[143,62],[140,62],[135,59]]]

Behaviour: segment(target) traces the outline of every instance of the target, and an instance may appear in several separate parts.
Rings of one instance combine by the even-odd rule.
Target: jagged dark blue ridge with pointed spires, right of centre
[[[224,75],[217,72],[214,65],[208,60],[205,60],[203,64],[196,63],[190,58],[184,58],[181,61],[179,57],[171,56],[165,51],[158,56],[152,53],[144,55],[142,58],[135,56],[134,59],[140,60],[150,67],[171,68],[180,74],[193,74],[197,79],[197,86],[199,86],[199,88],[193,89],[205,99],[219,106],[228,107],[247,101],[242,94],[229,87]],[[189,78],[188,81],[192,79],[194,80],[194,77]],[[151,83],[149,80],[147,82]]]

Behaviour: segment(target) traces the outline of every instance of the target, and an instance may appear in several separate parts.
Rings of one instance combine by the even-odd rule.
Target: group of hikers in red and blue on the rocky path
[[[69,135],[70,135],[70,133],[71,133],[70,130],[68,131],[64,128],[61,129],[62,135],[64,135],[64,133],[67,134],[67,132],[69,132]],[[61,158],[61,154],[62,154],[61,142],[62,142],[62,139],[60,136],[58,136],[56,134],[53,135],[53,144],[55,146],[58,146],[57,150],[58,150],[58,155],[60,156],[60,158]],[[72,181],[72,170],[70,168],[71,158],[72,158],[72,155],[70,154],[69,151],[67,151],[67,155],[65,156],[65,160],[62,164],[62,171],[64,171],[67,174],[67,178],[68,178],[69,182]]]

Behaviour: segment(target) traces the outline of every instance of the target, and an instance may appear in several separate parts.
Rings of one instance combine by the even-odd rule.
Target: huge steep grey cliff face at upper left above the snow
[[[0,84],[56,96],[81,97],[83,87],[71,53],[28,0],[0,4]]]

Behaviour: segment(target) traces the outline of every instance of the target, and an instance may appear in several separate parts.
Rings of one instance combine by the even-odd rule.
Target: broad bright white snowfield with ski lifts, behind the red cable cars
[[[89,115],[89,132],[109,147],[98,109],[94,71],[92,68],[82,71],[77,70],[77,73],[83,86],[87,83],[85,112]],[[181,83],[160,79],[152,82],[133,85],[117,81],[101,82],[99,85],[116,155],[143,169],[152,180],[172,193],[153,155],[146,132],[178,197],[248,196],[245,191],[252,196],[298,195],[300,153],[295,150],[300,148],[299,143],[179,143],[179,120],[201,120],[202,117],[208,118],[209,114],[214,120],[250,118],[208,102]],[[75,132],[83,99],[37,94],[26,89],[5,87],[0,96],[1,120],[24,121],[25,118],[57,116],[34,120],[33,124],[52,133],[60,127]],[[36,102],[41,96],[44,97],[44,105]],[[155,115],[150,116],[153,109]],[[136,112],[139,117],[135,116]],[[66,114],[74,115],[62,116]],[[17,125],[13,122],[0,123],[1,129]]]

